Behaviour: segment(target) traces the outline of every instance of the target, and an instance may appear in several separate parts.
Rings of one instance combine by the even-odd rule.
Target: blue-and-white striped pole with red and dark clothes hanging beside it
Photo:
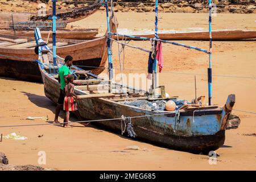
[[[155,38],[158,39],[158,0],[155,0]],[[156,48],[157,41],[155,41],[155,48]],[[155,97],[155,87],[156,87],[156,81],[157,81],[157,60],[155,58],[154,61],[154,71],[152,76],[152,92],[153,97]]]

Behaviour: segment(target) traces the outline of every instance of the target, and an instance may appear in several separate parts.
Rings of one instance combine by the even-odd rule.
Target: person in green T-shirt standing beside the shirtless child
[[[69,55],[66,56],[64,62],[65,64],[59,69],[60,96],[59,96],[59,100],[57,101],[57,107],[55,110],[55,119],[54,119],[55,123],[59,123],[58,117],[59,117],[61,108],[63,108],[64,98],[65,98],[63,89],[66,85],[68,75],[71,74],[69,69],[72,66],[73,57]]]

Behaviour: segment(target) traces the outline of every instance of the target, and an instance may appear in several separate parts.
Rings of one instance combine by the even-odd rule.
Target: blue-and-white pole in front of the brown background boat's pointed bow
[[[110,25],[109,25],[109,9],[108,9],[108,0],[105,0],[105,7],[106,7],[106,19],[107,19],[107,26],[108,26],[108,39],[107,39],[107,46],[108,46],[108,61],[109,61],[109,93],[112,89],[112,80],[113,80],[113,62],[112,62],[112,50],[111,50],[111,43],[110,43]]]

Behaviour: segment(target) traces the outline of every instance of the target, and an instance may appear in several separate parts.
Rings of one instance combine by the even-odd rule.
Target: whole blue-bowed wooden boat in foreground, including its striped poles
[[[111,2],[113,13],[113,1]],[[105,0],[105,6],[106,10],[108,10],[107,0]],[[114,14],[111,17],[115,20]],[[209,105],[206,104],[204,96],[195,97],[195,100],[191,102],[181,100],[177,96],[167,97],[164,86],[156,87],[154,81],[155,72],[152,72],[150,92],[114,82],[110,43],[111,40],[114,40],[112,36],[115,33],[112,32],[108,20],[107,24],[109,79],[104,80],[90,71],[84,71],[76,66],[71,68],[72,74],[83,84],[75,86],[75,93],[80,97],[77,100],[79,112],[82,117],[89,119],[89,121],[82,122],[93,122],[119,134],[125,133],[129,137],[146,140],[147,142],[176,150],[209,152],[222,146],[225,141],[225,130],[235,129],[240,124],[238,117],[230,118],[236,101],[234,94],[230,94],[226,104],[223,107],[219,107],[211,103],[210,89]],[[157,26],[157,18],[155,24]],[[43,39],[40,37],[38,28],[36,28],[35,32],[39,46],[38,67],[44,82],[44,93],[56,103],[59,98],[60,88],[60,84],[57,81],[57,68],[63,65],[63,59],[57,56],[56,62],[53,64],[52,57],[55,57],[55,55],[47,45],[41,44]],[[147,40],[147,38],[141,39]],[[154,41],[170,43],[166,40],[158,39],[157,28],[155,39],[153,39],[152,43]],[[119,43],[122,46],[127,46],[122,42]],[[205,49],[180,43],[171,42],[171,44],[211,54]],[[138,47],[133,46],[133,48]],[[139,49],[143,51],[142,48]],[[211,77],[210,71],[211,69],[208,68],[209,77]],[[211,88],[211,78],[208,78],[208,82],[209,88]],[[156,88],[161,89],[160,95],[156,94]],[[171,107],[168,107],[170,104]]]

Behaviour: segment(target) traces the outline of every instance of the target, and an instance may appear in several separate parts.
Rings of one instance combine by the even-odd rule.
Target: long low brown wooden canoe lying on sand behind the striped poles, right
[[[209,40],[209,32],[174,32],[159,33],[159,38],[163,40]],[[143,36],[146,38],[154,38],[154,34],[135,34],[133,36]],[[119,39],[122,39],[119,36]],[[131,38],[126,38],[131,39]],[[213,40],[243,40],[256,39],[256,31],[249,30],[221,30],[212,32]],[[134,39],[137,40],[137,39]]]

